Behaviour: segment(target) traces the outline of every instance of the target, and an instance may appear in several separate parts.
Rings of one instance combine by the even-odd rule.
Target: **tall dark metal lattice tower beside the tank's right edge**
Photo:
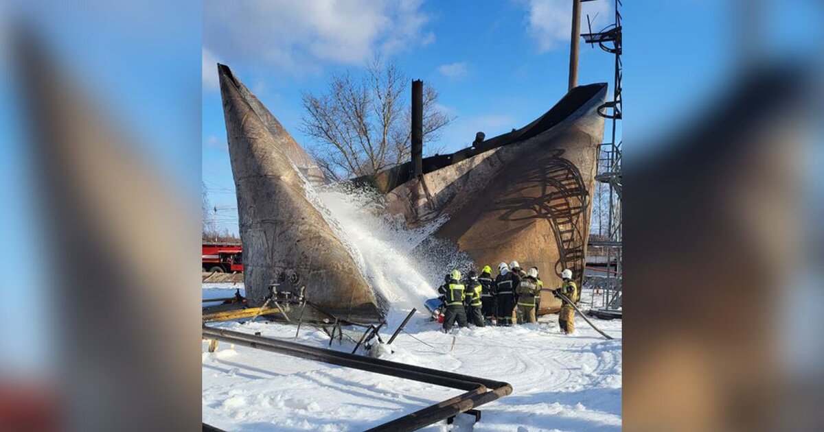
[[[592,0],[583,0],[592,1]],[[615,311],[621,307],[621,267],[622,253],[621,243],[623,239],[623,224],[621,221],[621,133],[618,126],[621,121],[621,78],[623,66],[621,63],[621,0],[616,0],[615,21],[606,26],[603,30],[592,32],[592,23],[587,16],[589,33],[581,35],[584,42],[593,48],[596,46],[615,57],[615,76],[612,86],[612,100],[606,101],[598,107],[598,114],[611,121],[611,134],[608,140],[601,145],[601,154],[598,157],[598,172],[595,179],[605,183],[609,188],[609,218],[606,240],[592,241],[591,246],[600,246],[606,249],[607,269],[611,269],[612,260],[615,259],[615,271],[606,272],[606,277],[616,277],[615,290],[611,295],[607,295],[606,312]],[[623,128],[621,129],[623,130]],[[605,309],[601,309],[604,311]],[[597,314],[597,312],[596,312]],[[614,314],[614,312],[612,313]],[[614,318],[614,317],[612,317]]]

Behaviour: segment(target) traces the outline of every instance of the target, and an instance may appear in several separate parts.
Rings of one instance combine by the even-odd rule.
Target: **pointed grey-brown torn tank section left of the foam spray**
[[[244,249],[246,295],[260,305],[269,286],[306,297],[349,322],[382,321],[385,302],[319,210],[311,183],[323,174],[264,105],[218,65],[229,157]],[[304,318],[327,318],[307,308]]]

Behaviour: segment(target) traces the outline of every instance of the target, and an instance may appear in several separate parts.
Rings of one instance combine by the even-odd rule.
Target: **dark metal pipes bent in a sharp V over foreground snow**
[[[280,341],[269,337],[254,336],[242,332],[232,332],[212,327],[203,327],[203,337],[227,341],[236,345],[248,346],[258,350],[271,351],[283,355],[292,355],[307,360],[316,360],[347,368],[365,370],[375,374],[384,374],[402,379],[412,379],[420,383],[429,383],[448,388],[464,390],[459,396],[451,397],[432,406],[415,411],[406,416],[378,425],[370,431],[405,431],[418,430],[440,420],[447,420],[461,412],[471,411],[476,406],[507,396],[513,392],[512,385],[463,374],[454,374],[438,369],[428,369],[415,365],[405,365],[394,361],[372,359],[362,355],[325,350],[314,346],[305,346],[291,341]]]

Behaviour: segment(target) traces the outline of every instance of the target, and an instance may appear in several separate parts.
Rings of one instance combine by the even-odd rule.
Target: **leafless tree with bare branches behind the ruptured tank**
[[[333,75],[325,93],[302,95],[302,132],[316,140],[309,153],[327,179],[376,174],[409,160],[409,84],[395,63],[376,58],[361,75]],[[453,119],[438,108],[438,91],[424,86],[424,142],[437,141]]]

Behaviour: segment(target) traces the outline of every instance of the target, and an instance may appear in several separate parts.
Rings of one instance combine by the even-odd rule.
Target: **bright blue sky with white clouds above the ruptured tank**
[[[567,91],[570,2],[384,3],[204,2],[203,178],[221,227],[237,232],[215,62],[232,67],[304,146],[311,141],[300,132],[301,91],[323,91],[331,73],[359,72],[375,53],[440,92],[456,116],[434,143],[447,151],[477,131],[494,137],[520,128]],[[600,30],[613,9],[604,0],[584,3],[583,12]],[[582,45],[579,82],[611,81],[612,64],[608,53]]]

